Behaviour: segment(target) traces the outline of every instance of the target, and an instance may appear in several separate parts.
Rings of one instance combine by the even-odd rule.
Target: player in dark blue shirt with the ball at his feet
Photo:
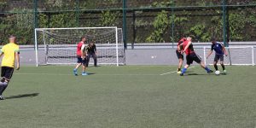
[[[224,47],[224,44],[217,42],[215,38],[212,38],[211,41],[212,41],[212,47],[207,55],[207,59],[210,55],[212,55],[212,50],[214,49],[215,57],[214,57],[214,61],[213,61],[213,66],[214,66],[215,70],[218,71],[217,63],[219,60],[220,65],[223,69],[223,72],[226,73],[225,66],[224,66],[224,55],[227,56],[228,54]]]

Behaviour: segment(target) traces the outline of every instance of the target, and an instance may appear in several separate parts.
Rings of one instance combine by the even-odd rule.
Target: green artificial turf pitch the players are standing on
[[[0,127],[254,128],[256,67],[226,68],[180,77],[176,67],[90,67],[76,77],[68,66],[21,67],[0,101]]]

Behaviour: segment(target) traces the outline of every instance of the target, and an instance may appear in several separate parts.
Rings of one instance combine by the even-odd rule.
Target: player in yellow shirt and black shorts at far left
[[[20,69],[20,49],[19,45],[15,44],[15,36],[9,37],[9,44],[5,44],[1,49],[0,57],[3,56],[1,65],[1,80],[0,80],[0,100],[4,100],[3,91],[7,88],[10,79],[14,73],[15,61],[16,70]]]

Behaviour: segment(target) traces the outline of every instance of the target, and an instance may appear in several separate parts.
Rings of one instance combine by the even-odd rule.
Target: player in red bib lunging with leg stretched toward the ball
[[[203,67],[207,73],[212,73],[212,70],[206,67],[206,65],[201,61],[201,57],[195,54],[195,50],[193,48],[192,44],[192,38],[188,37],[185,42],[183,42],[183,52],[186,53],[186,60],[187,64],[183,67],[182,73],[180,73],[180,76],[183,76],[183,74],[187,71],[189,68],[190,64],[193,63],[193,61],[197,62],[198,64]]]

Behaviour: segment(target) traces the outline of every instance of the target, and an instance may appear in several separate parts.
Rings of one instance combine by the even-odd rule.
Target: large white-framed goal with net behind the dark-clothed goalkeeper
[[[36,61],[39,65],[63,65],[77,62],[76,49],[80,38],[94,41],[97,64],[124,65],[125,50],[122,29],[113,27],[36,28]]]

